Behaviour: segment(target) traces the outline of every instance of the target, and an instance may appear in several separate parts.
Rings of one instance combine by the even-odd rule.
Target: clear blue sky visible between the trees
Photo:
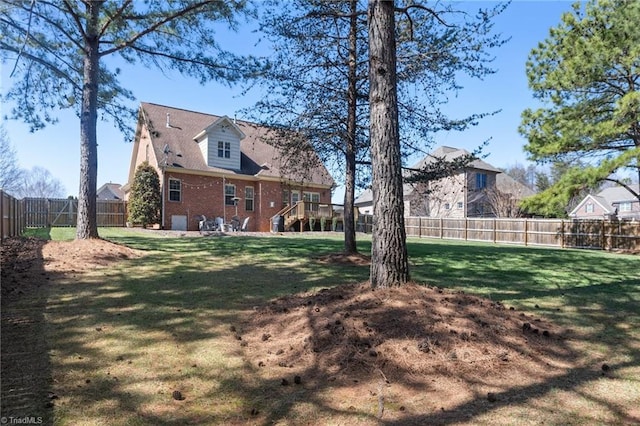
[[[535,101],[527,87],[525,62],[531,49],[544,40],[551,27],[557,26],[563,12],[571,10],[570,1],[518,1],[496,19],[495,31],[511,40],[493,53],[498,72],[484,81],[466,81],[448,108],[454,115],[502,110],[486,118],[463,133],[439,134],[436,145],[465,148],[470,151],[491,138],[485,153],[486,161],[496,167],[515,163],[526,164],[523,147],[526,141],[518,134],[521,112],[534,107]],[[486,6],[486,2],[465,2],[471,10]],[[254,47],[258,36],[246,26],[237,34],[220,34],[224,47],[235,51],[259,52]],[[3,66],[0,90],[4,93],[11,81],[8,76],[12,64]],[[146,69],[142,66],[123,67],[122,83],[131,89],[139,102],[153,102],[188,110],[233,117],[240,109],[251,107],[259,95],[257,90],[246,95],[240,88],[229,89],[220,84],[199,85],[177,73]],[[10,105],[0,105],[0,116],[9,113]],[[44,167],[59,179],[68,195],[77,195],[80,175],[80,124],[71,111],[58,114],[59,123],[36,133],[13,120],[4,121],[21,168]],[[238,118],[242,118],[238,115]],[[133,127],[133,124],[132,124]],[[125,142],[130,135],[122,135],[111,123],[100,122],[98,127],[98,186],[114,182],[124,184],[128,178],[133,145]],[[341,202],[340,191],[334,197]]]

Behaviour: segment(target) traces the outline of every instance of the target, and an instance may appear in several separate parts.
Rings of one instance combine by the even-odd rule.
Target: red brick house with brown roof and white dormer
[[[128,193],[141,163],[156,168],[161,226],[175,230],[197,230],[205,215],[226,223],[248,218],[247,229],[269,231],[272,217],[287,205],[304,200],[313,210],[329,204],[334,182],[320,160],[313,170],[289,171],[265,142],[268,135],[265,127],[226,116],[142,103],[124,189]]]

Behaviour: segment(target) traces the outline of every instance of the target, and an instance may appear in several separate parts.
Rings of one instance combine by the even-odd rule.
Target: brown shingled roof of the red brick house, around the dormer
[[[334,184],[319,159],[317,167],[304,174],[285,171],[278,150],[265,142],[270,130],[255,123],[147,102],[140,105],[140,117],[151,135],[155,158],[161,163],[166,161],[168,167],[238,177],[261,176],[326,186]],[[240,141],[240,170],[208,166],[194,140],[194,137],[201,135],[206,129],[225,121],[234,126],[241,138],[244,136]]]

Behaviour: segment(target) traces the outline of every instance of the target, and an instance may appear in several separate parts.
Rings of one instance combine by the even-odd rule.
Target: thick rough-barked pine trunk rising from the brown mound
[[[393,1],[369,1],[373,237],[371,286],[409,281],[396,82]]]

